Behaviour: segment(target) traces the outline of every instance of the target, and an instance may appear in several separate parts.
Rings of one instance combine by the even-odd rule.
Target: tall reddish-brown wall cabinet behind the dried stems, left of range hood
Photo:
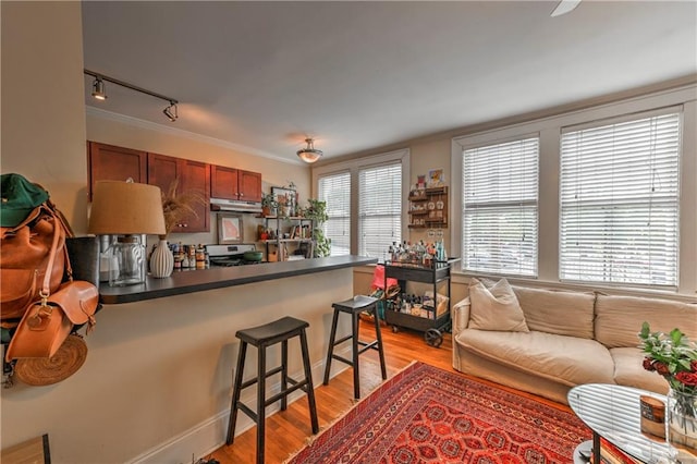
[[[169,192],[172,183],[179,179],[178,192],[194,191],[200,193],[203,204],[194,205],[196,215],[184,218],[172,232],[209,232],[210,231],[210,168],[209,164],[167,155],[149,152],[147,155],[148,184],[159,186]]]

